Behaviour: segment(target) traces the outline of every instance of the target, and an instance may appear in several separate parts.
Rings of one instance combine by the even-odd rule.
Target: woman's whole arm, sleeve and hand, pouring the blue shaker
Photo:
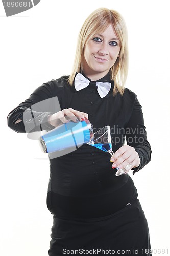
[[[88,118],[86,113],[71,108],[61,110],[64,107],[63,84],[58,79],[38,87],[29,99],[9,113],[8,126],[16,132],[28,133],[51,130],[69,120],[77,122]]]

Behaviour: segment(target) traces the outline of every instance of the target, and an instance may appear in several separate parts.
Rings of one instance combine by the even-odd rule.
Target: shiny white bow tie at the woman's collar
[[[75,77],[75,89],[80,91],[89,85],[90,81],[82,74],[78,73]],[[101,98],[105,97],[111,88],[110,82],[95,82],[98,87],[97,91]]]

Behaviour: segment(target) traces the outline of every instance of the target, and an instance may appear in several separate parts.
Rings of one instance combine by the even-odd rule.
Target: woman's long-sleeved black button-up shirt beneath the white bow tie
[[[67,79],[68,76],[63,76],[37,88],[28,100],[8,115],[9,127],[25,132],[27,123],[34,122],[35,130],[52,129],[45,120],[48,112],[55,112],[52,106],[34,109],[31,112],[33,120],[25,125],[23,112],[37,102],[57,96],[61,109],[72,108],[88,113],[94,132],[109,125],[113,152],[124,145],[126,137],[127,144],[135,148],[141,160],[134,172],[142,169],[150,161],[151,147],[136,95],[126,88],[123,96],[120,93],[113,96],[112,83],[108,95],[101,98],[94,84],[77,92]],[[101,80],[107,79],[106,76]],[[22,122],[14,124],[18,119]],[[110,157],[109,153],[85,144],[74,152],[50,159],[48,209],[61,218],[93,218],[112,214],[134,200],[137,190],[131,177],[128,174],[116,177]]]

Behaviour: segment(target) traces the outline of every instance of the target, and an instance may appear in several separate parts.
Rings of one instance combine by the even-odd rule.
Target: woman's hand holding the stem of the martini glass
[[[112,168],[123,169],[128,164],[131,164],[131,169],[139,166],[140,158],[138,153],[135,151],[135,148],[129,145],[124,145],[120,147],[114,155],[110,158],[110,161],[113,162]],[[129,170],[127,170],[129,172]]]

